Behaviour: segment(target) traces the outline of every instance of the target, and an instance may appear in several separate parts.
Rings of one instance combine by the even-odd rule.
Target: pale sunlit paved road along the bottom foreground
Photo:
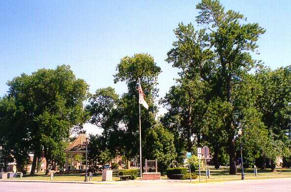
[[[0,192],[291,192],[291,178],[208,184],[145,182],[99,185],[0,182]]]

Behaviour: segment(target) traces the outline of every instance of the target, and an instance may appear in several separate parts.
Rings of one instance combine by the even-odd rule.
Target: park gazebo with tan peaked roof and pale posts
[[[79,137],[65,149],[64,153],[66,154],[66,171],[76,169],[77,162],[75,162],[75,156],[82,156],[86,153],[86,136],[84,134],[80,134]],[[71,159],[70,168],[69,157]]]

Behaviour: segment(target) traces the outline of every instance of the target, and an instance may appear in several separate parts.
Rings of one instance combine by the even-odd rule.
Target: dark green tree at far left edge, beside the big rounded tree
[[[4,163],[4,170],[15,159],[17,170],[26,173],[30,140],[25,128],[26,122],[22,121],[23,115],[21,109],[17,110],[13,97],[0,98],[0,162]]]

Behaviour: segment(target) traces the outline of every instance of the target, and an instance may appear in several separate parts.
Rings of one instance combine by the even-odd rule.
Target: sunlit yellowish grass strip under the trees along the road
[[[241,169],[238,168],[238,173],[236,175],[229,175],[229,169],[219,168],[214,169],[210,167],[211,178],[207,179],[207,182],[218,182],[218,181],[231,181],[231,180],[240,180],[241,179]],[[282,178],[282,177],[291,177],[291,168],[277,168],[277,172],[270,172],[270,169],[261,170],[258,169],[258,177],[255,176],[253,168],[244,169],[245,179],[266,179],[266,178]],[[196,180],[192,182],[199,182],[199,172],[195,171],[195,174],[198,176]],[[84,181],[85,174],[54,174],[53,181]],[[20,178],[12,178],[19,180]],[[119,181],[120,178],[117,177],[116,173],[113,173],[113,181]],[[139,177],[137,177],[139,179]],[[166,175],[161,175],[161,179],[168,179]],[[23,180],[42,180],[50,181],[51,177],[44,175],[44,173],[36,173],[34,176],[24,175]],[[94,174],[92,181],[102,181],[102,173]],[[181,181],[188,182],[188,181]],[[205,170],[201,170],[201,182],[206,182]]]

